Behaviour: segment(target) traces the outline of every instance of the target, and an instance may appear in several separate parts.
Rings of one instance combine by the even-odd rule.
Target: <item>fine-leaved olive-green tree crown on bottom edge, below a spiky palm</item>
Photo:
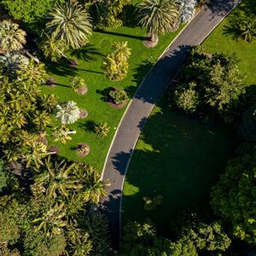
[[[49,237],[32,229],[26,230],[24,247],[27,256],[56,256],[65,252],[66,240],[63,234]]]

